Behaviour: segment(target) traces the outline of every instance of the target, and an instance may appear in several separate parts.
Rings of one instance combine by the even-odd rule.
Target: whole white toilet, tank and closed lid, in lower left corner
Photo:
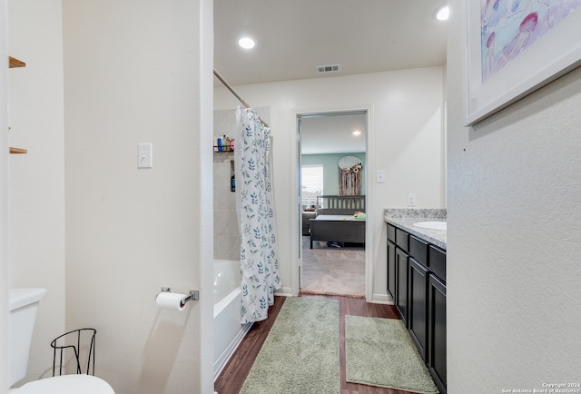
[[[22,380],[28,369],[28,355],[33,339],[34,320],[38,303],[44,299],[45,289],[11,289],[9,311],[10,386]],[[62,375],[31,381],[10,394],[114,394],[103,379],[92,375]]]

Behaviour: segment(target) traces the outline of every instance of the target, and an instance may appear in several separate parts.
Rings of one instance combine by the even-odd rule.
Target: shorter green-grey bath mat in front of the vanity
[[[438,393],[401,320],[345,316],[347,381]]]

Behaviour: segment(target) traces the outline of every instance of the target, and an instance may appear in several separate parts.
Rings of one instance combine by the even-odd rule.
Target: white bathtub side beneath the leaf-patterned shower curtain
[[[252,323],[241,324],[240,261],[214,260],[214,380]]]

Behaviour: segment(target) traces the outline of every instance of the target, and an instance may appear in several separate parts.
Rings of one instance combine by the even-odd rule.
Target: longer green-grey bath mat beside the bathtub
[[[339,301],[289,297],[241,394],[340,394]]]

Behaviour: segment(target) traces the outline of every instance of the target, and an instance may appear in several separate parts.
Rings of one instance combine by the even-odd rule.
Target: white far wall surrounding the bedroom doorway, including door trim
[[[228,79],[228,75],[224,75]],[[297,206],[298,153],[296,115],[310,111],[371,109],[368,169],[386,172],[386,182],[370,182],[368,248],[373,270],[373,298],[387,300],[386,246],[383,209],[406,207],[407,193],[418,193],[418,207],[443,208],[441,67],[388,73],[236,86],[236,91],[254,107],[270,106],[274,156],[274,189],[283,291],[298,291],[291,271],[298,260],[298,219],[290,207]],[[216,110],[239,103],[223,87],[214,92]],[[297,206],[298,209],[298,206]],[[369,246],[369,245],[368,245]]]

